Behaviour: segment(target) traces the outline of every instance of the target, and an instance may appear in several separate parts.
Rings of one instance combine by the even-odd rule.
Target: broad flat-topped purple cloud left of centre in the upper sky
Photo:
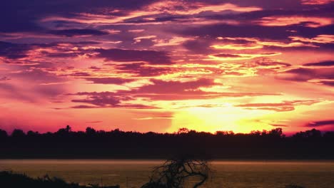
[[[98,58],[105,58],[106,61],[145,61],[150,64],[172,64],[171,58],[163,51],[139,51],[123,49],[97,49]]]

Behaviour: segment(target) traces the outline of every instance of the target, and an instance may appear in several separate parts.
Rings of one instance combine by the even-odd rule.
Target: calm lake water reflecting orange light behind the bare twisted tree
[[[158,160],[0,160],[0,170],[61,177],[80,184],[141,187]],[[206,188],[334,187],[334,161],[214,161]]]

